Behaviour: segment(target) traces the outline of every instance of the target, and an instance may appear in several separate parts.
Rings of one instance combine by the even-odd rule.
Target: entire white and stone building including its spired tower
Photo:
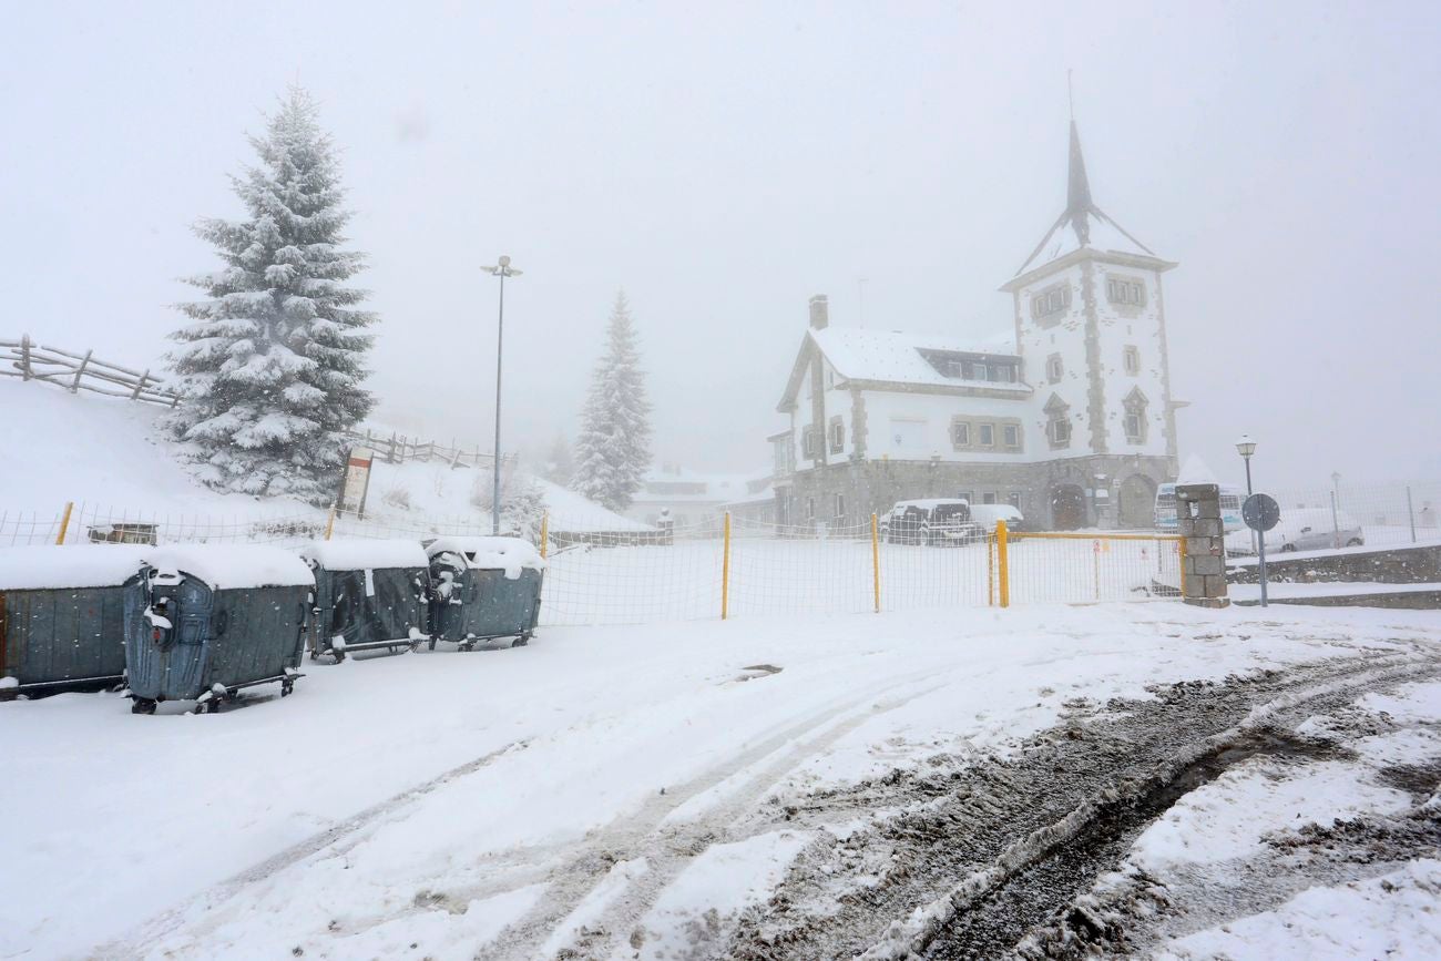
[[[831,327],[810,301],[771,438],[785,524],[869,523],[898,500],[1017,506],[1033,529],[1146,529],[1176,477],[1161,259],[1091,199],[1075,122],[1066,209],[1001,285],[1014,340]]]

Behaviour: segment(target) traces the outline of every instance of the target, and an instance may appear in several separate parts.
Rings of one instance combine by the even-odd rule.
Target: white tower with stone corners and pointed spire
[[[1058,527],[1148,526],[1156,484],[1176,475],[1161,292],[1174,267],[1095,205],[1072,120],[1066,207],[1001,287]]]

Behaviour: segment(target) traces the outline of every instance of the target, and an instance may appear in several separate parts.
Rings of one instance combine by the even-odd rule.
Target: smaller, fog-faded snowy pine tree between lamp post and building
[[[650,467],[650,402],[635,347],[635,324],[624,291],[607,327],[605,353],[595,366],[581,414],[571,487],[611,510],[624,510]]]

